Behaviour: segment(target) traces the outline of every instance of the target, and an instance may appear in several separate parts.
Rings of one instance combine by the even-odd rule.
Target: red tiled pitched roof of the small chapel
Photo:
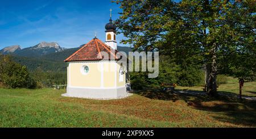
[[[90,40],[89,43],[85,44],[83,47],[73,53],[71,56],[69,56],[67,59],[65,59],[64,62],[102,60],[104,58],[104,56],[102,56],[102,52],[109,54],[109,60],[110,55],[112,55],[115,60],[119,60],[116,55],[118,52],[117,50],[110,49],[110,47],[103,43],[101,40],[94,38]]]

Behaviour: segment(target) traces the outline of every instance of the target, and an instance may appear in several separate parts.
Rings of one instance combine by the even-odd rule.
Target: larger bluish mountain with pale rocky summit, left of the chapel
[[[14,54],[18,56],[38,57],[44,54],[62,52],[63,50],[65,50],[65,48],[60,47],[60,45],[55,42],[52,42],[52,43],[42,42],[35,45],[34,47],[28,47],[28,48],[24,48],[19,51],[16,51],[14,52]]]

